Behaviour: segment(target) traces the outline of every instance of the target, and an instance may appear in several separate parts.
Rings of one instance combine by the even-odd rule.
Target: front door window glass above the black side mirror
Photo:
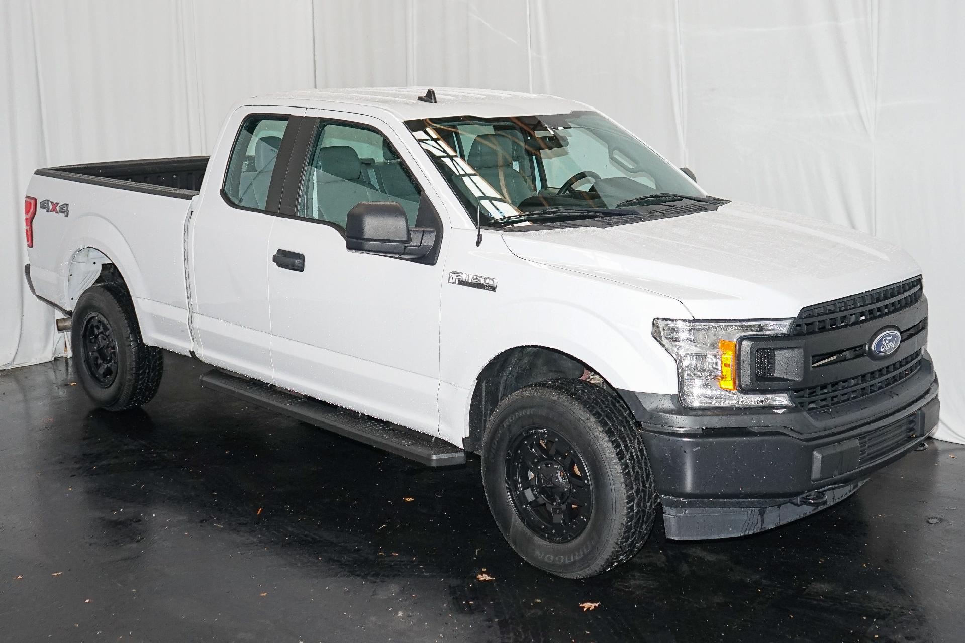
[[[345,229],[348,210],[365,201],[395,201],[409,225],[419,213],[422,190],[378,131],[354,123],[321,121],[308,156],[298,216]]]

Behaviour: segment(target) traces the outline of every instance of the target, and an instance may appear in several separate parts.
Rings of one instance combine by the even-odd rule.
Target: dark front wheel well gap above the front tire
[[[606,388],[593,368],[571,355],[544,346],[517,346],[489,361],[476,378],[476,388],[470,401],[469,436],[463,447],[478,451],[489,416],[499,403],[523,387],[557,378],[585,379]]]

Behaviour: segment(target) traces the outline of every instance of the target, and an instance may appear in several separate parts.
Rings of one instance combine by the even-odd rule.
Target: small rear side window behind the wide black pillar
[[[264,210],[268,186],[275,171],[289,118],[278,115],[250,116],[234,139],[225,175],[225,197],[235,205]]]

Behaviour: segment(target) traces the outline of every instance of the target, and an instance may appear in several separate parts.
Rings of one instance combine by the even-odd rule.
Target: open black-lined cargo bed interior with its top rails
[[[201,189],[207,156],[107,161],[44,168],[35,174],[162,197],[191,199]]]

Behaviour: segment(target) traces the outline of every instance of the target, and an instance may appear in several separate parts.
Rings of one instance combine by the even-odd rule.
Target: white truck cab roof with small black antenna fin
[[[433,88],[436,102],[419,100],[429,88],[374,87],[343,90],[301,90],[255,96],[245,105],[286,105],[317,109],[341,109],[372,114],[388,112],[401,121],[434,117],[471,115],[478,117],[565,114],[589,107],[575,100],[546,94],[524,94],[496,90],[471,90],[452,87]]]

